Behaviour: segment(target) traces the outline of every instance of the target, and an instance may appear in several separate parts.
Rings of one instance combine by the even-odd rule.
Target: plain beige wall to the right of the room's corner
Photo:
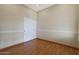
[[[77,5],[55,5],[38,12],[37,37],[79,48]]]

